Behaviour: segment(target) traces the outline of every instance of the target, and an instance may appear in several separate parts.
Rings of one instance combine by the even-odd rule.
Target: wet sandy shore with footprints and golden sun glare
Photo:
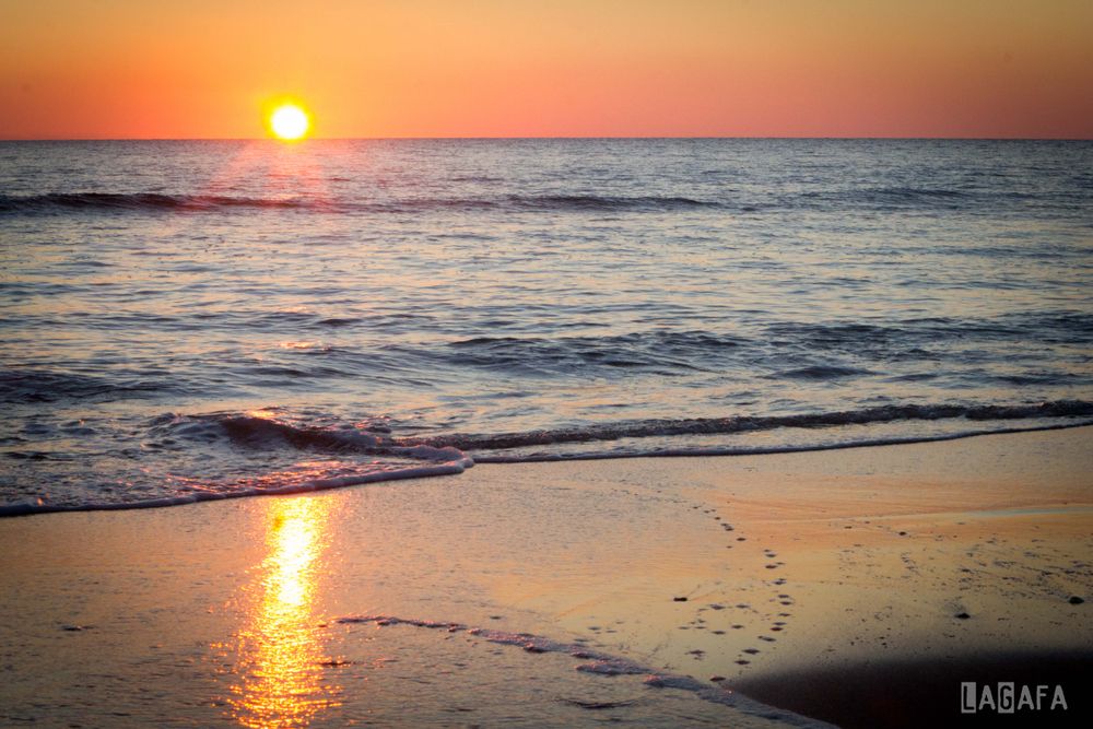
[[[395,672],[357,656],[372,634],[338,623],[353,615],[576,642],[846,726],[966,721],[960,683],[999,680],[1063,683],[1069,713],[1022,716],[1077,720],[1093,657],[1093,428],[479,466],[7,519],[0,551],[8,724],[400,724],[420,701],[365,696]],[[447,724],[436,716],[406,722]],[[604,718],[557,726],[581,716]]]

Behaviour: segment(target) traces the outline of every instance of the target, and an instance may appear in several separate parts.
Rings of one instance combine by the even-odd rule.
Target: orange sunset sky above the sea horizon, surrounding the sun
[[[0,0],[0,138],[1093,138],[1091,0]]]

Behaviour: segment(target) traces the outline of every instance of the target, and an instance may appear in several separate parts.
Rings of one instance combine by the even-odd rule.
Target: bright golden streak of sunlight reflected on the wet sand
[[[272,498],[269,504],[267,556],[260,580],[250,588],[235,667],[238,682],[228,703],[245,727],[306,727],[339,704],[338,686],[324,681],[313,614],[329,502]]]

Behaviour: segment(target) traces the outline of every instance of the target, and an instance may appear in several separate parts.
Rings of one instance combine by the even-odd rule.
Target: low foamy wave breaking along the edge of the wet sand
[[[278,410],[278,409],[274,409]],[[0,505],[0,517],[50,512],[153,508],[202,501],[292,494],[402,479],[454,475],[479,463],[512,463],[650,456],[745,456],[831,450],[866,446],[949,440],[974,435],[1015,433],[1093,425],[1093,402],[1062,400],[1013,405],[936,404],[891,405],[855,411],[781,416],[645,420],[524,433],[399,436],[385,421],[338,424],[314,415],[274,416],[222,412],[197,415],[166,413],[148,422],[140,451],[119,455],[127,462],[150,454],[153,461],[137,465],[130,486],[115,492],[116,481],[104,482],[102,496],[24,498]],[[953,421],[930,432],[898,427],[839,433],[839,426],[869,426],[900,421]],[[898,423],[897,423],[898,424]],[[820,437],[792,436],[709,445],[701,436],[732,435],[775,428],[815,431]],[[835,428],[828,437],[823,428]],[[681,437],[682,436],[682,437]],[[695,436],[695,437],[686,437]],[[606,448],[610,440],[627,439]],[[670,438],[667,444],[657,438]],[[647,440],[643,440],[647,439]],[[643,445],[645,444],[645,445]],[[13,442],[10,445],[25,445]],[[588,445],[587,448],[575,448]],[[545,447],[541,450],[528,450]],[[156,456],[160,454],[162,456]],[[167,455],[169,454],[169,456]],[[71,461],[63,452],[37,454],[25,448],[9,451],[26,461],[46,458]],[[58,458],[59,457],[59,458]],[[161,460],[154,460],[154,459]],[[167,460],[162,460],[166,458]],[[157,469],[151,466],[160,463]],[[184,466],[188,463],[188,466]],[[238,465],[245,468],[240,471]],[[231,465],[235,465],[232,467]],[[246,466],[249,465],[249,466]],[[208,475],[202,475],[211,467]],[[227,470],[224,470],[227,466]],[[163,470],[167,469],[167,470]],[[248,470],[249,469],[249,470]],[[71,474],[87,486],[87,474]],[[219,475],[216,475],[219,473]],[[234,475],[233,475],[234,473]],[[145,482],[143,479],[149,479]],[[169,483],[168,483],[169,482]],[[164,484],[167,485],[164,485]],[[171,485],[174,484],[174,485]],[[98,492],[91,484],[87,492]],[[102,497],[109,493],[109,501]]]

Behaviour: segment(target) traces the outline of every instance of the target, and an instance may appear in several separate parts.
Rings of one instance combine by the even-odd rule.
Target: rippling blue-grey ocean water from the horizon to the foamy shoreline
[[[1093,143],[0,143],[0,513],[1093,421]]]

